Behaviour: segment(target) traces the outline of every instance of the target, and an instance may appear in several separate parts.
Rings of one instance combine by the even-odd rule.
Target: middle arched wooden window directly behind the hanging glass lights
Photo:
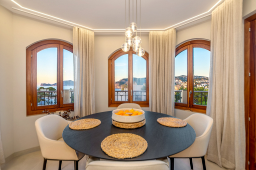
[[[108,58],[108,106],[138,103],[149,106],[149,54],[138,56],[133,48]]]

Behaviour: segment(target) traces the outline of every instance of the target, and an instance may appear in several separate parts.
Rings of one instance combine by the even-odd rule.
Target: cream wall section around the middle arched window
[[[108,107],[108,56],[121,47],[124,35],[95,36],[95,109],[96,112],[113,110]],[[149,51],[149,35],[142,36],[141,46]],[[149,107],[144,107],[149,110]]]

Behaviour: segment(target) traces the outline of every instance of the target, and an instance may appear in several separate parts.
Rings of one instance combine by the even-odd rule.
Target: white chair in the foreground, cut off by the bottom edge
[[[167,158],[142,161],[100,160],[90,156],[86,162],[86,170],[169,170]]]

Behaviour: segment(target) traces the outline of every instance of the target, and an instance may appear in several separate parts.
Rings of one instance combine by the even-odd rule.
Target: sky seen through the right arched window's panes
[[[210,51],[204,48],[193,48],[194,75],[209,77]],[[175,58],[175,76],[188,75],[187,73],[187,49],[179,53]]]

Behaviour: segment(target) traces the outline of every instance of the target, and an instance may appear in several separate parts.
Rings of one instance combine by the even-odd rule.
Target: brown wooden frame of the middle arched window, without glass
[[[133,95],[128,95],[128,101],[114,101],[114,60],[116,60],[119,56],[122,56],[124,54],[128,54],[128,93],[130,94],[130,91],[133,90],[133,54],[136,54],[136,52],[133,50],[132,47],[127,52],[124,52],[122,49],[119,49],[108,58],[108,107],[117,107],[122,103],[137,103],[141,107],[149,107],[149,53],[146,51],[142,57],[147,62],[147,101],[133,101]]]

